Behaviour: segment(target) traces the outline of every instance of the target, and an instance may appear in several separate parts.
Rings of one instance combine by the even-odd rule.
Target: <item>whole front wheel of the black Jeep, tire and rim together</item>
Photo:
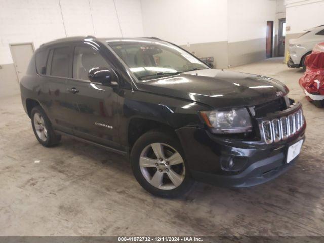
[[[135,142],[130,158],[136,180],[153,195],[177,197],[194,183],[180,142],[168,133],[146,132]]]

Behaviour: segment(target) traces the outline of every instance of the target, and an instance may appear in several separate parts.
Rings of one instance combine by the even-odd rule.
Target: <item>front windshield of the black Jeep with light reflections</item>
[[[209,68],[199,59],[169,43],[124,40],[109,41],[108,44],[139,80]]]

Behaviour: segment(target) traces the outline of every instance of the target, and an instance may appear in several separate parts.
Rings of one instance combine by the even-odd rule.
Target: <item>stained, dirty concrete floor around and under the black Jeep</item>
[[[153,197],[119,155],[70,138],[41,146],[20,97],[2,98],[0,235],[324,235],[324,109],[282,59],[232,70],[277,78],[303,103],[307,139],[286,174],[248,189],[197,183],[185,198]]]

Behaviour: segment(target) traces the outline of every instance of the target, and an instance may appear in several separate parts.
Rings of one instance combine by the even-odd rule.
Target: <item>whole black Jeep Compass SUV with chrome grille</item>
[[[68,135],[130,158],[139,184],[172,197],[193,180],[249,187],[285,172],[306,123],[269,77],[211,69],[156,38],[43,44],[21,80],[39,143]]]

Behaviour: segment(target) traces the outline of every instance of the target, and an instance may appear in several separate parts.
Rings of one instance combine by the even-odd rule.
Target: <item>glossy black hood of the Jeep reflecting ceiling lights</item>
[[[139,82],[141,91],[178,97],[213,108],[254,106],[285,96],[281,82],[260,75],[217,69],[184,72]]]

